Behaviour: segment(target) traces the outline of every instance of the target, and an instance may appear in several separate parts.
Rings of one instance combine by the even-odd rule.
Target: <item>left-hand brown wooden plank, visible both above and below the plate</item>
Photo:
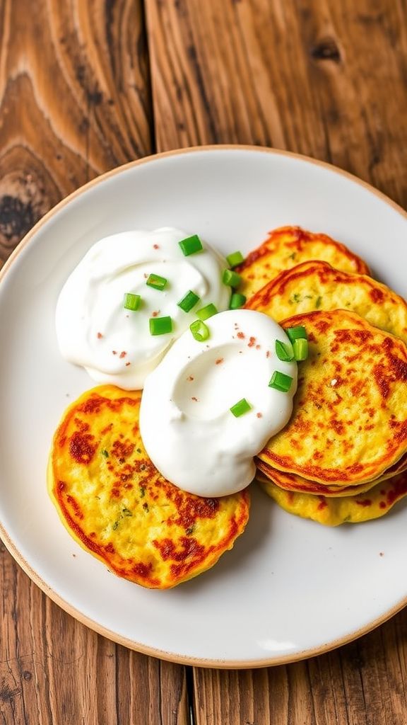
[[[152,150],[140,0],[0,2],[0,265],[63,196]],[[3,725],[186,725],[185,668],[54,605],[0,545]]]

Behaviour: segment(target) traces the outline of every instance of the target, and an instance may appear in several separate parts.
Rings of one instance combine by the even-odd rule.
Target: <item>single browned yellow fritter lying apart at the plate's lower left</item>
[[[143,587],[167,589],[213,566],[223,552],[232,548],[248,521],[250,499],[247,490],[222,499],[202,498],[164,479],[149,460],[140,438],[140,395],[138,391],[124,392],[107,385],[86,392],[70,405],[54,436],[49,490],[72,536],[111,571]],[[104,421],[109,419],[103,429],[101,415]],[[81,475],[84,489],[75,496],[72,481],[76,485]],[[88,505],[89,480],[102,481],[98,484],[101,495],[95,498],[103,498],[109,511],[119,511],[120,526],[129,527],[132,519],[127,516],[134,517],[133,529],[126,531],[137,542],[133,548],[129,546],[128,555],[117,551],[119,531],[114,531],[109,522],[104,522],[103,540],[98,529],[87,530],[89,520],[84,507]],[[97,515],[92,515],[96,522],[106,518],[103,505],[97,506]],[[217,530],[221,513],[224,529],[215,535],[212,532]],[[140,526],[135,531],[138,521]],[[205,522],[209,533],[201,535]]]

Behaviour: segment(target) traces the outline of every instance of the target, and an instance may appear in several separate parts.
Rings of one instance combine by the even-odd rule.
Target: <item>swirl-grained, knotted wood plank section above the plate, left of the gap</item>
[[[59,199],[151,152],[140,0],[0,1],[0,264]]]

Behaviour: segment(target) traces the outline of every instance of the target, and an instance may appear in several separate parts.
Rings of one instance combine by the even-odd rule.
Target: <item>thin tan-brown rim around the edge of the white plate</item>
[[[43,215],[43,217],[41,217],[41,219],[39,219],[37,223],[35,223],[33,228],[31,228],[30,231],[25,234],[20,243],[17,244],[17,247],[15,247],[12,254],[10,254],[8,260],[0,269],[0,283],[3,281],[4,276],[6,276],[6,274],[8,273],[9,268],[12,266],[14,260],[16,260],[19,254],[22,252],[22,249],[25,249],[25,247],[30,243],[35,234],[43,227],[43,225],[45,225],[51,218],[53,218],[65,205],[76,199],[77,196],[83,194],[84,191],[87,191],[89,188],[105,181],[107,178],[114,177],[122,171],[143,165],[148,162],[154,162],[157,159],[171,156],[180,156],[182,154],[188,153],[208,151],[259,152],[263,154],[274,154],[275,156],[283,156],[291,159],[297,159],[300,162],[309,162],[311,164],[329,170],[337,175],[342,175],[345,178],[348,178],[349,181],[353,181],[353,183],[358,184],[358,186],[362,186],[366,189],[366,191],[370,191],[372,194],[381,199],[382,202],[385,202],[386,204],[390,205],[390,207],[393,207],[396,212],[398,212],[403,218],[407,220],[407,212],[403,209],[403,207],[400,207],[400,204],[394,202],[393,199],[390,199],[389,196],[384,194],[382,191],[379,191],[379,189],[375,188],[367,181],[364,181],[363,179],[358,178],[356,175],[345,171],[333,164],[330,164],[329,162],[314,159],[313,157],[306,156],[304,154],[285,151],[283,149],[273,149],[269,146],[254,146],[251,144],[207,144],[205,146],[188,146],[182,149],[172,149],[171,151],[160,152],[157,154],[149,154],[148,156],[141,159],[136,159],[135,161],[130,161],[126,164],[114,167],[113,169],[96,176],[96,178],[83,184],[83,186],[75,189],[75,191],[72,191],[72,193],[68,194],[68,196],[65,196],[64,199],[62,199],[60,202],[58,202],[58,204],[56,204],[48,212],[46,212],[46,214]],[[0,537],[2,539],[2,542],[4,543],[4,546],[7,548],[17,564],[19,564],[22,570],[29,576],[31,581],[33,581],[34,584],[36,584],[36,586],[39,587],[46,596],[48,596],[53,602],[59,605],[59,607],[61,607],[65,612],[70,614],[70,616],[75,618],[77,621],[80,621],[81,624],[85,624],[85,626],[87,626],[89,629],[96,631],[103,637],[106,637],[107,639],[110,639],[119,645],[123,645],[130,650],[135,650],[136,652],[148,655],[150,657],[159,658],[161,660],[166,660],[168,662],[173,662],[181,665],[219,669],[251,669],[269,666],[279,666],[298,662],[300,660],[316,657],[317,655],[322,655],[324,653],[330,652],[331,650],[335,650],[337,647],[342,647],[343,645],[347,645],[350,642],[353,642],[359,637],[363,637],[364,634],[368,634],[370,631],[373,631],[381,624],[384,624],[390,618],[395,616],[395,614],[400,612],[400,610],[407,606],[406,595],[392,608],[387,609],[384,613],[382,613],[382,615],[375,618],[373,621],[370,621],[368,624],[359,627],[356,630],[348,632],[348,634],[345,634],[343,637],[332,639],[330,640],[330,642],[325,642],[323,645],[319,645],[318,647],[311,647],[306,650],[301,650],[297,653],[280,655],[277,657],[265,657],[256,660],[226,660],[190,657],[188,655],[180,655],[177,653],[167,652],[167,650],[160,650],[158,647],[149,647],[148,645],[143,645],[141,642],[135,642],[133,639],[129,639],[121,634],[118,634],[117,632],[107,629],[101,624],[98,624],[98,622],[94,621],[91,617],[84,615],[82,612],[80,612],[80,610],[77,610],[75,607],[73,607],[69,602],[67,602],[67,600],[64,600],[63,597],[57,594],[54,589],[52,589],[52,587],[47,584],[46,581],[41,578],[41,576],[38,575],[35,569],[30,566],[27,560],[25,560],[20,550],[18,550],[17,545],[12,540],[12,537],[9,536],[7,529],[4,528],[1,522]]]

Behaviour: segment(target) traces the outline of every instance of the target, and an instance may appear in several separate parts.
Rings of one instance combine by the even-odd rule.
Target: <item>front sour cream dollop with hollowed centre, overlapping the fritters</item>
[[[140,434],[156,468],[180,489],[225,496],[253,480],[253,456],[288,423],[297,364],[279,360],[285,331],[262,312],[227,310],[206,320],[210,336],[186,331],[143,390]],[[293,378],[289,392],[269,387],[274,370]],[[246,398],[251,410],[230,408]]]

